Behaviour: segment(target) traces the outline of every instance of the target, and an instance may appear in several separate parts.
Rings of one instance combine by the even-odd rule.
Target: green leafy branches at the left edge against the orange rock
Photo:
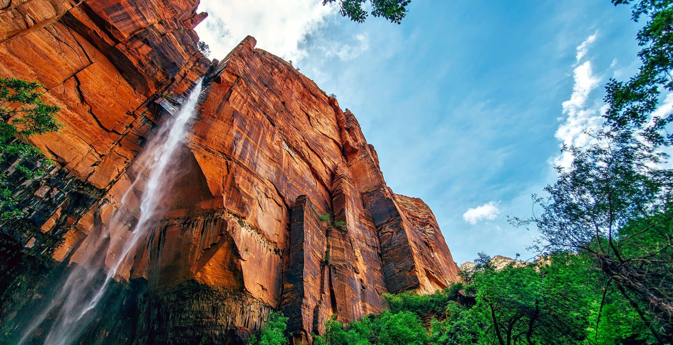
[[[0,159],[3,165],[28,178],[42,173],[51,162],[24,139],[59,129],[54,115],[61,109],[42,100],[42,85],[20,79],[0,78]],[[11,170],[10,169],[10,170]],[[5,174],[0,174],[0,219],[20,219],[25,213],[17,204]]]

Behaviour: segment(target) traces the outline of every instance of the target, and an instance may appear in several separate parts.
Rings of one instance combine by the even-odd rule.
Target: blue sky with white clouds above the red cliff
[[[388,186],[432,208],[458,264],[527,259],[531,213],[561,143],[598,124],[603,85],[638,64],[629,7],[609,0],[413,0],[401,25],[349,22],[322,1],[202,0],[221,59],[246,34],[357,116]],[[673,100],[673,99],[672,99]],[[472,209],[472,210],[470,210]]]

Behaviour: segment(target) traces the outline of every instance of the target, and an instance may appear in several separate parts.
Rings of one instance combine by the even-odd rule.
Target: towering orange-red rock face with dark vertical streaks
[[[7,223],[3,233],[63,267],[129,231],[146,137],[206,75],[166,212],[116,277],[133,286],[133,317],[81,341],[242,342],[281,310],[306,344],[333,313],[352,321],[382,311],[384,293],[458,280],[431,210],[386,186],[355,116],[252,37],[221,62],[206,59],[192,30],[205,17],[197,5],[13,0],[0,10],[0,77],[40,81],[64,124],[32,139],[58,167],[17,188],[38,230]],[[119,255],[106,251],[106,262]],[[125,336],[101,336],[118,328]]]

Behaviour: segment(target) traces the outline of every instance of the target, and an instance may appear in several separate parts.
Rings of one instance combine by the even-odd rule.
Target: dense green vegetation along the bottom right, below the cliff
[[[501,270],[488,259],[481,256],[463,272],[470,284],[458,282],[433,295],[384,295],[388,310],[348,325],[329,319],[314,344],[670,344],[657,340],[621,291],[605,289],[589,254],[557,253]],[[276,342],[264,344],[286,344],[279,316],[261,332]],[[251,344],[262,344],[258,339]]]

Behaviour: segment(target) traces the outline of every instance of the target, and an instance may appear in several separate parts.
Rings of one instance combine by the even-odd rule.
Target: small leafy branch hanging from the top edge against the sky
[[[322,5],[336,1],[322,0]],[[400,24],[406,16],[406,6],[411,3],[411,0],[369,0],[371,12],[363,9],[363,4],[366,2],[367,0],[339,0],[339,13],[357,23],[365,22],[365,19],[371,14],[374,17],[384,17],[391,23]]]

